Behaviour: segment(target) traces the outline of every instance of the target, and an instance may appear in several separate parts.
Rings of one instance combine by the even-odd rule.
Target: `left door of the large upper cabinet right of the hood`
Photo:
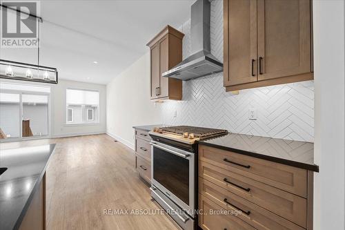
[[[257,0],[224,0],[224,86],[257,81]]]

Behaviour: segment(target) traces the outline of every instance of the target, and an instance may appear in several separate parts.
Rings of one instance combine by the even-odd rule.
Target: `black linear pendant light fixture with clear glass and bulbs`
[[[23,12],[21,10],[9,8],[8,6],[5,6],[1,3],[0,7],[6,10],[14,10],[21,14],[28,15],[28,17],[33,17],[38,22],[37,65],[0,59],[0,78],[57,84],[57,68],[39,65],[39,46],[41,40],[39,29],[40,23],[43,23],[43,19],[41,17],[37,17],[36,15],[30,15],[27,12]]]

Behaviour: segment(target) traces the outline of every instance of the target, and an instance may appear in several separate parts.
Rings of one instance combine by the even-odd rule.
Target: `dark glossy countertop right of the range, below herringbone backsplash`
[[[301,169],[319,171],[319,166],[314,164],[314,144],[311,142],[229,133],[222,137],[202,140],[199,144],[287,164]]]

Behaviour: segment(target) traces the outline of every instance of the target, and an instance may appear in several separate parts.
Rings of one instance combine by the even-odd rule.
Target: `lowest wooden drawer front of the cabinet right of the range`
[[[203,195],[199,195],[199,209],[203,210],[203,215],[199,215],[199,227],[204,230],[236,229],[254,230],[246,222],[240,220],[236,215],[225,213],[217,204],[208,200]],[[221,213],[222,212],[222,213]],[[215,215],[217,213],[218,215]],[[227,215],[228,214],[228,215]]]

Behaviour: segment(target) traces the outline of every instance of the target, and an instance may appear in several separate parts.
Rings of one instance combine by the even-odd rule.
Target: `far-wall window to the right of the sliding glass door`
[[[66,90],[66,124],[99,122],[99,92]]]

